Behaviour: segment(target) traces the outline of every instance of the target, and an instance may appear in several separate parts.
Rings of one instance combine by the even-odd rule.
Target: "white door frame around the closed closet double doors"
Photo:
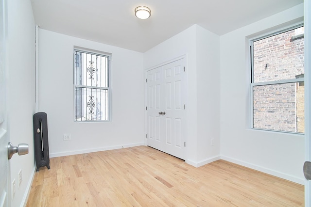
[[[186,149],[185,149],[185,161],[187,162],[187,159],[188,159],[188,148],[187,148],[187,143],[189,142],[189,139],[188,139],[188,127],[189,127],[189,123],[188,123],[188,120],[189,120],[189,113],[188,113],[188,111],[189,110],[187,110],[187,106],[189,105],[189,101],[188,101],[188,58],[187,58],[187,55],[186,54],[184,54],[184,55],[181,55],[181,56],[178,56],[178,57],[175,57],[175,58],[172,58],[172,59],[169,59],[168,61],[165,61],[165,62],[162,62],[162,63],[159,63],[159,64],[155,64],[154,66],[152,66],[152,67],[149,67],[149,68],[146,68],[146,69],[144,69],[144,85],[145,85],[145,87],[144,87],[144,89],[145,89],[145,100],[144,100],[144,106],[145,106],[145,115],[144,115],[144,117],[145,117],[145,141],[144,141],[144,144],[145,144],[145,146],[147,146],[147,140],[148,140],[148,138],[147,138],[147,132],[148,132],[148,129],[147,129],[147,110],[146,110],[146,107],[147,107],[147,82],[146,82],[146,80],[147,80],[147,72],[148,71],[150,71],[150,70],[153,70],[153,69],[155,69],[155,68],[158,68],[158,67],[161,67],[161,66],[163,66],[163,65],[166,65],[166,64],[170,64],[170,63],[173,63],[173,62],[175,62],[175,61],[178,61],[178,60],[181,60],[181,59],[184,59],[184,63],[185,63],[185,67],[186,67],[186,69],[185,69],[185,81],[184,81],[184,88],[185,88],[185,104],[186,104],[186,110],[185,110],[185,142],[186,142]]]

